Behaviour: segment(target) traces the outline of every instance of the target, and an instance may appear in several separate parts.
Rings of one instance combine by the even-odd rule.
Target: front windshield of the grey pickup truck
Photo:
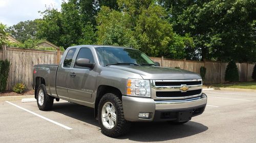
[[[143,52],[135,49],[98,47],[95,48],[102,66],[112,64],[155,65]]]

